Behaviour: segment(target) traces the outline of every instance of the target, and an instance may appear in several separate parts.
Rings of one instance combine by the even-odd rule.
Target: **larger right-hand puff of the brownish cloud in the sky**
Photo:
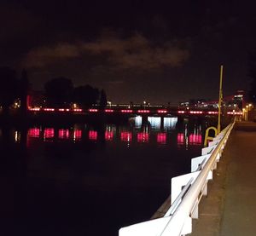
[[[101,38],[93,43],[84,43],[84,49],[97,55],[108,53],[108,61],[117,69],[176,67],[189,57],[188,50],[178,48],[174,43],[154,46],[141,34],[126,39]]]

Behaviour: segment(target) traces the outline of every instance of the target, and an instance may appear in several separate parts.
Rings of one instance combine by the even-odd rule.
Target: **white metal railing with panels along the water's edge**
[[[224,150],[234,124],[228,125],[201,156],[191,160],[191,173],[172,178],[172,202],[166,215],[119,229],[119,236],[179,236],[192,233],[192,218],[198,218],[198,204],[207,195],[207,182]]]

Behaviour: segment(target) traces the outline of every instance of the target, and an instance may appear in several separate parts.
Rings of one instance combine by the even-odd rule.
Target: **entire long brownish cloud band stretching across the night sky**
[[[189,58],[189,51],[172,42],[154,45],[141,34],[126,38],[113,35],[97,38],[93,42],[58,43],[52,47],[32,49],[23,60],[23,65],[44,67],[60,60],[88,55],[104,56],[108,66],[115,70],[150,70],[181,66]]]

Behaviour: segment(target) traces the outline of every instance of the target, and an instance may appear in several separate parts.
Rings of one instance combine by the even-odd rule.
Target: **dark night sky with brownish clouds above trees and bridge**
[[[248,89],[253,1],[0,1],[0,66],[33,89],[64,76],[113,102],[177,104]]]

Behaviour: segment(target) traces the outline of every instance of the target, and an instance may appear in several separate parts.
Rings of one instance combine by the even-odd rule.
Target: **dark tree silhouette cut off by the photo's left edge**
[[[3,114],[9,113],[11,106],[17,98],[17,78],[15,70],[9,67],[0,67],[0,103],[3,106]]]

